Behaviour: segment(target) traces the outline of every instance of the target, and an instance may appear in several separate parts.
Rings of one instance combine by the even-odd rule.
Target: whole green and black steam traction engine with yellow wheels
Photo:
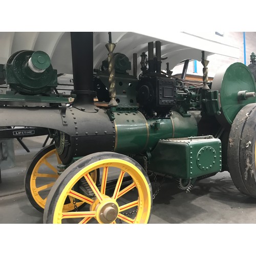
[[[58,93],[57,72],[44,52],[19,51],[0,72],[2,126],[43,127],[54,144],[27,169],[31,204],[44,223],[148,223],[153,205],[148,175],[173,178],[189,191],[199,180],[229,171],[241,193],[256,197],[255,81],[242,63],[209,82],[162,71],[161,42],[130,60],[106,44],[93,70],[93,33],[72,32],[74,91]],[[97,96],[97,100],[95,100]]]

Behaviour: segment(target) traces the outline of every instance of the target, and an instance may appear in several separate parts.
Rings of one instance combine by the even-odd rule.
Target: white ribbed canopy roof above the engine
[[[162,58],[167,57],[162,61],[162,69],[166,69],[166,62],[169,62],[170,70],[185,59],[201,61],[202,51],[205,51],[206,57],[217,53],[238,58],[238,47],[228,45],[220,39],[222,38],[202,37],[185,32],[152,32],[152,35],[112,32],[112,42],[116,43],[114,52],[124,53],[130,61],[133,53],[137,53],[138,64],[140,54],[142,52],[147,54],[147,43],[160,40]],[[108,41],[108,32],[94,32],[94,68],[96,69],[108,55],[105,48]],[[11,54],[19,50],[45,51],[51,57],[53,68],[57,69],[58,73],[73,74],[70,32],[0,32],[0,63],[6,63]],[[138,68],[137,75],[139,73]]]

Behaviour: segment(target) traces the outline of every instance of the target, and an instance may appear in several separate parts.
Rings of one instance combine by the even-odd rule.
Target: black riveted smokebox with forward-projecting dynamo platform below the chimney
[[[63,164],[68,164],[72,157],[113,151],[115,147],[114,121],[96,106],[93,110],[91,105],[90,108],[84,105],[82,110],[67,108],[62,113],[61,108],[5,107],[0,108],[0,115],[3,126],[43,127],[50,129],[52,134],[55,131],[64,133],[65,148],[60,154]]]

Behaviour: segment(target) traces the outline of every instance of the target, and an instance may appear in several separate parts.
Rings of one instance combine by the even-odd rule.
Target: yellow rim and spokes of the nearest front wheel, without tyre
[[[115,190],[112,197],[105,195],[106,189],[106,178],[110,167],[116,167],[120,169],[120,175],[118,177]],[[89,175],[94,169],[103,168],[103,175],[101,180],[101,187],[98,189]],[[124,174],[128,174],[132,177],[133,182],[123,189],[120,189]],[[84,177],[88,184],[90,184],[94,191],[96,198],[88,198],[79,193],[76,193],[72,188],[76,183]],[[117,199],[124,196],[133,188],[138,190],[138,199],[124,205],[119,205]],[[68,196],[73,196],[82,202],[90,205],[90,211],[79,211],[79,212],[65,212],[63,210],[63,204]],[[113,206],[114,205],[114,206]],[[134,219],[124,215],[124,211],[137,208],[136,216]],[[108,214],[105,211],[112,211],[113,218],[108,218]],[[118,211],[118,212],[115,212]],[[122,213],[123,212],[123,213]],[[80,224],[86,224],[91,219],[96,219],[98,223],[117,223],[121,220],[125,223],[137,224],[147,223],[150,218],[151,212],[151,192],[148,187],[147,181],[141,171],[132,163],[122,159],[104,159],[96,161],[86,167],[83,167],[77,174],[75,174],[67,183],[65,188],[61,191],[61,194],[56,203],[56,207],[53,214],[53,223],[61,223],[62,219],[67,218],[82,218]],[[100,216],[102,216],[100,218]],[[111,216],[112,216],[111,215]],[[115,218],[116,216],[116,218]],[[104,218],[106,217],[106,218]],[[112,218],[112,219],[111,219]],[[104,221],[108,219],[108,221]]]

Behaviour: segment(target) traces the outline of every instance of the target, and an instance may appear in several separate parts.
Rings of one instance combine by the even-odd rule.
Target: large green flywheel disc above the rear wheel
[[[243,106],[255,102],[255,97],[238,100],[239,91],[256,92],[253,75],[240,62],[222,67],[212,81],[211,90],[218,90],[220,93],[221,115],[216,115],[216,118],[224,126],[232,124]]]

